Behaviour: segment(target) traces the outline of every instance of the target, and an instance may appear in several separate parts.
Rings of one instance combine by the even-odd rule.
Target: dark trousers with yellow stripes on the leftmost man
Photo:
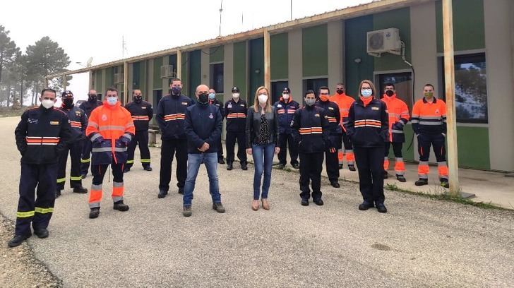
[[[46,229],[54,212],[58,163],[21,163],[20,198],[16,213],[16,235],[30,235],[34,230]],[[37,187],[37,189],[36,189]],[[35,198],[37,195],[37,198]]]

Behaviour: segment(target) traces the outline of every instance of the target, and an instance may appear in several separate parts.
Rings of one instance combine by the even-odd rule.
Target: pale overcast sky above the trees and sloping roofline
[[[119,0],[2,1],[0,25],[25,52],[44,36],[68,54],[71,70],[92,57],[92,65],[200,42],[219,35],[220,4],[216,0],[157,1],[128,4]],[[224,0],[222,35],[303,18],[371,2],[371,0]],[[122,39],[125,40],[123,54]],[[87,98],[88,74],[68,85],[77,99]]]

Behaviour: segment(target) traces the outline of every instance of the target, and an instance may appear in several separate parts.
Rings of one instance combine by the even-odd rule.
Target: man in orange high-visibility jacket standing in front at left
[[[89,217],[100,215],[102,183],[109,165],[112,169],[112,201],[114,210],[127,211],[124,203],[123,167],[127,146],[136,133],[132,116],[118,100],[118,90],[108,88],[102,106],[91,112],[85,134],[92,143],[92,185],[89,194]]]

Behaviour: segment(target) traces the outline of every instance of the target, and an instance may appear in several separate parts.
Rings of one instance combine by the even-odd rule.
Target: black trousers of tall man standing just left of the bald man
[[[187,178],[187,140],[162,140],[161,167],[159,174],[159,189],[169,190],[169,181],[172,179],[173,157],[177,159],[177,187],[184,191]]]

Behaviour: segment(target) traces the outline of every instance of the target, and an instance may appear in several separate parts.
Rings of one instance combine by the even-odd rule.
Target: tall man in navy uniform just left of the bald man
[[[173,157],[177,159],[179,193],[184,193],[187,177],[187,138],[184,119],[186,109],[193,104],[193,101],[181,93],[182,81],[179,78],[172,79],[169,88],[169,95],[161,98],[155,114],[162,140],[158,198],[165,198],[168,193],[169,181],[172,179]]]

